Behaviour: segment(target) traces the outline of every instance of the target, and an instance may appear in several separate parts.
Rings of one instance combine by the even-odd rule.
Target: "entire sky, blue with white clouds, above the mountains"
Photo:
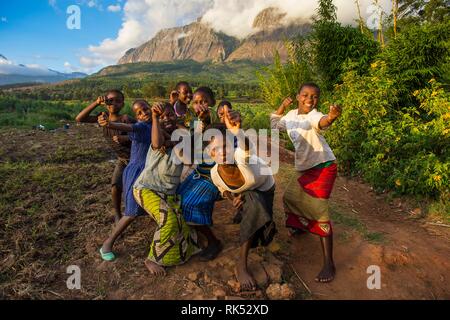
[[[354,23],[354,1],[334,0],[339,21]],[[386,12],[391,0],[379,0]],[[379,17],[372,0],[360,0],[363,16]],[[69,30],[70,5],[81,10],[81,29]],[[159,30],[189,24],[199,17],[214,29],[243,39],[254,18],[278,7],[286,19],[309,20],[317,0],[0,0],[0,54],[15,65],[92,73],[115,64],[130,48]],[[114,9],[114,10],[113,10]],[[6,67],[0,59],[0,73]]]

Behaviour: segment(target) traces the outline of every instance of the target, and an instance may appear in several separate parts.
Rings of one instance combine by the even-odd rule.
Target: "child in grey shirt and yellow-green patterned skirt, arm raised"
[[[200,251],[197,234],[184,221],[175,194],[183,169],[182,161],[176,161],[182,158],[178,146],[173,147],[170,141],[177,129],[176,121],[170,104],[152,107],[152,147],[145,169],[134,184],[136,201],[157,223],[145,260],[150,273],[156,276],[165,275],[164,267],[182,264]]]

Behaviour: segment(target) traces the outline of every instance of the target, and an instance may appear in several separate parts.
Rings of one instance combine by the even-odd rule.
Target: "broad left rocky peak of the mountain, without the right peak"
[[[163,29],[150,41],[130,49],[118,64],[194,60],[220,62],[237,47],[239,41],[207,25],[194,22],[184,27]]]

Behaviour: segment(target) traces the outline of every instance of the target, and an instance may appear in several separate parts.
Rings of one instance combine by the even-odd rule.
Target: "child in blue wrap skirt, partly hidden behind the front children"
[[[211,109],[215,104],[214,93],[210,88],[201,87],[195,91],[193,110],[196,119],[192,122],[193,130],[204,131],[208,125],[217,122],[217,114]],[[197,128],[193,128],[195,120],[199,120]],[[214,203],[219,198],[219,190],[211,181],[210,171],[213,166],[214,164],[205,162],[198,164],[177,191],[181,196],[181,209],[185,221],[193,225],[208,241],[206,249],[200,255],[202,261],[215,259],[223,248],[210,228]]]

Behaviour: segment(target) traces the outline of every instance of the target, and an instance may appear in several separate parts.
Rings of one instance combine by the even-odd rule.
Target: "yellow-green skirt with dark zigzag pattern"
[[[200,252],[197,234],[184,221],[176,196],[161,195],[148,189],[133,189],[133,192],[136,202],[157,224],[149,260],[161,266],[175,266]]]

